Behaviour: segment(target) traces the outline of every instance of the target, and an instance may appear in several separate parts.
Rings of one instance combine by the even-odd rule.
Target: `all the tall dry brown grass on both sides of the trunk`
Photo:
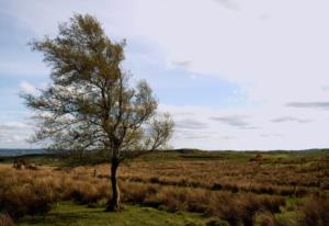
[[[58,201],[100,205],[110,197],[111,188],[109,166],[97,168],[94,177],[90,167],[15,170],[0,165],[0,212],[19,218],[46,214]],[[144,161],[122,166],[120,187],[126,203],[203,213],[231,226],[275,225],[274,215],[287,208],[303,213],[300,225],[326,225],[328,202],[319,201],[325,199],[311,200],[302,208],[285,207],[285,195],[326,193],[328,169],[327,163],[314,161]]]

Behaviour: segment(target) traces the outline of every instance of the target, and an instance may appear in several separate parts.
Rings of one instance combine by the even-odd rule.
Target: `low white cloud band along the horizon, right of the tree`
[[[174,147],[252,150],[329,146],[329,116],[326,111],[307,109],[304,112],[285,106],[218,110],[174,105],[160,105],[160,110],[171,112],[177,122],[172,138]],[[241,112],[243,115],[239,115]],[[190,118],[197,123],[191,122],[191,126],[181,124],[189,123]],[[273,122],[273,118],[281,123]]]

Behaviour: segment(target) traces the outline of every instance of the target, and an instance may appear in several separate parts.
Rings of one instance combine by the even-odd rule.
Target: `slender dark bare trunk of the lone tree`
[[[107,202],[106,211],[107,212],[116,212],[121,208],[121,200],[120,200],[120,190],[117,185],[116,171],[118,168],[118,161],[112,159],[111,163],[111,187],[112,187],[112,196]]]

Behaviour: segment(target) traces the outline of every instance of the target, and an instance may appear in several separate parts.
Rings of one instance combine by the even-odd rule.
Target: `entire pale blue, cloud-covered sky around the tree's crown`
[[[49,68],[26,43],[73,13],[127,41],[123,68],[146,79],[175,122],[170,145],[208,150],[329,147],[327,0],[0,0],[0,148],[34,122],[20,93]]]

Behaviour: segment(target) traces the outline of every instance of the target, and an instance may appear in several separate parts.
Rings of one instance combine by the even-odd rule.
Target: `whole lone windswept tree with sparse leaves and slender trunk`
[[[59,25],[57,37],[30,45],[43,53],[53,80],[38,94],[23,94],[38,118],[33,140],[53,150],[105,152],[112,185],[106,211],[120,210],[120,163],[163,147],[173,121],[157,113],[146,81],[129,84],[121,67],[125,42],[112,42],[95,18],[76,14]]]

